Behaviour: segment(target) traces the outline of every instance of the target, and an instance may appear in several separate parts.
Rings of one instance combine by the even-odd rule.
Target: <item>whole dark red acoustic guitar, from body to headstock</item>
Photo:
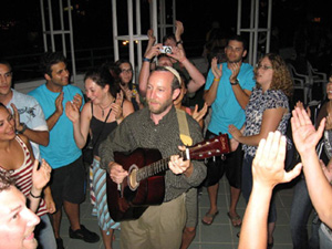
[[[184,159],[204,159],[230,152],[227,134],[204,141],[179,152]],[[165,196],[165,172],[169,158],[158,149],[136,148],[132,153],[114,152],[114,162],[128,172],[121,185],[106,173],[107,204],[112,219],[123,221],[138,219],[151,205],[160,205]]]

